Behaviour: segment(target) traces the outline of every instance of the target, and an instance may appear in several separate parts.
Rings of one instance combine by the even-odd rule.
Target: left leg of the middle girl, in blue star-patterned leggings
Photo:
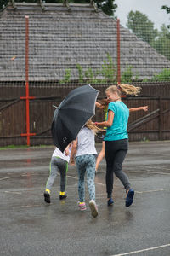
[[[84,176],[86,172],[86,166],[84,163],[84,155],[77,156],[77,171],[78,171],[78,195],[79,201],[85,201],[85,184]]]

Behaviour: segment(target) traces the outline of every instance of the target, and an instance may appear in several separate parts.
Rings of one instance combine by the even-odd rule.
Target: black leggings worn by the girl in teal
[[[105,141],[105,160],[106,160],[106,192],[107,197],[111,198],[114,182],[114,173],[118,177],[126,191],[130,189],[127,175],[122,172],[122,162],[128,150],[128,140]]]

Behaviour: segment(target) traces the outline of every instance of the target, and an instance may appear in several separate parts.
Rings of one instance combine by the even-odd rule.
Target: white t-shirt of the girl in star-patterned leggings
[[[97,154],[94,141],[94,131],[84,126],[77,136],[76,157],[83,154]]]

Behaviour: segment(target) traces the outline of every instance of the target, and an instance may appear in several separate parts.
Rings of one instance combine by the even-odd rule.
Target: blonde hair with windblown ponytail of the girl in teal
[[[121,91],[126,95],[139,95],[141,87],[136,87],[131,84],[118,84],[109,86],[105,91],[110,90],[112,93],[117,92],[119,96],[121,96]]]

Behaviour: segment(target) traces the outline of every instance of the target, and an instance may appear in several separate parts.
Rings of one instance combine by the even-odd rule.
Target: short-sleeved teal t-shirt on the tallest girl
[[[108,106],[108,112],[114,113],[113,124],[107,127],[105,141],[117,141],[128,138],[127,123],[129,109],[123,102],[111,102]]]

